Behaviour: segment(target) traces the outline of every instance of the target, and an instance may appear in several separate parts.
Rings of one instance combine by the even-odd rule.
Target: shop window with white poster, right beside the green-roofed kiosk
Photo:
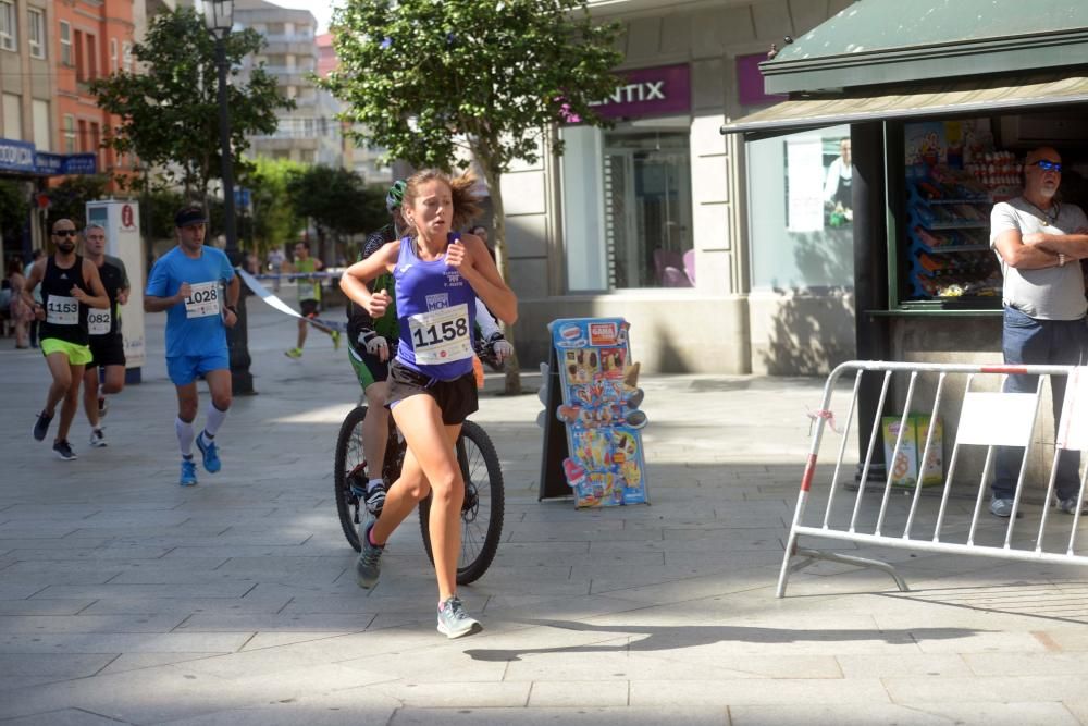
[[[752,287],[853,286],[850,126],[746,147]]]

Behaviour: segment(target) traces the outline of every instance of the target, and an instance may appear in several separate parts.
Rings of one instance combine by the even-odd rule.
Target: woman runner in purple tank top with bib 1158
[[[360,524],[362,552],[356,581],[378,582],[382,551],[390,536],[429,493],[434,571],[438,580],[438,632],[459,638],[481,630],[457,598],[457,556],[465,482],[454,442],[465,418],[477,410],[472,373],[472,323],[479,297],[504,322],[518,317],[518,300],[506,286],[480,237],[458,235],[479,213],[471,175],[450,179],[429,169],[408,180],[404,212],[408,236],[391,242],[353,264],[341,288],[373,318],[390,304],[385,292],[367,283],[382,272],[396,280],[400,329],[397,357],[390,367],[390,408],[408,443],[400,478],[393,483],[379,519]]]

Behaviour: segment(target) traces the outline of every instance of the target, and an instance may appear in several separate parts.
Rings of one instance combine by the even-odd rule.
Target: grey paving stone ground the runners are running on
[[[503,462],[505,534],[461,593],[485,631],[447,641],[416,521],[378,588],[354,582],[332,499],[358,397],[346,354],[312,333],[290,360],[294,321],[250,315],[259,395],[235,401],[223,470],[191,489],[162,316],[109,446],[77,417],[76,462],[30,438],[40,355],[0,341],[0,722],[1088,723],[1080,569],[869,549],[911,592],[820,564],[775,598],[817,379],[645,378],[653,504],[595,512],[537,501],[540,377],[485,395],[473,420]]]

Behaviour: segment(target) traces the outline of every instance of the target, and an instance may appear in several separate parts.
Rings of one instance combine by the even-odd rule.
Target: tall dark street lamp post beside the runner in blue
[[[223,233],[226,235],[226,256],[235,268],[243,266],[244,255],[238,249],[238,232],[234,216],[234,158],[231,153],[231,115],[226,96],[226,36],[234,26],[234,0],[205,0],[211,12],[206,15],[208,28],[215,37],[215,66],[219,71],[219,145],[223,157]],[[245,287],[245,283],[243,283]],[[246,296],[238,296],[238,321],[226,330],[226,344],[231,352],[231,387],[235,395],[251,395],[254,377],[249,372],[249,333],[246,316]]]

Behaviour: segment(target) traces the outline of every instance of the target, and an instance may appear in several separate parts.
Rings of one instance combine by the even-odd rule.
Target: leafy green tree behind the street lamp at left
[[[259,33],[231,33],[224,42],[233,76],[227,87],[231,145],[238,159],[248,148],[246,136],[274,132],[276,111],[295,102],[280,95],[262,66],[252,69],[246,83],[238,78],[242,59],[264,45]],[[91,83],[98,104],[121,116],[106,145],[163,169],[165,181],[181,183],[186,196],[203,198],[222,170],[215,41],[196,11],[180,8],[157,15],[133,54],[138,73],[119,71]],[[119,176],[119,182],[138,185],[141,180]]]

